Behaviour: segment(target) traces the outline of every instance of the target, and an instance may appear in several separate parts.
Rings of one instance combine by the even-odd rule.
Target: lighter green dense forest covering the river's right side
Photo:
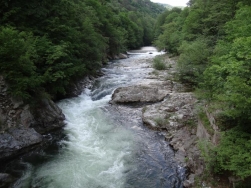
[[[179,80],[216,116],[221,141],[204,156],[210,173],[250,178],[251,1],[190,0],[159,16],[155,37],[178,57]]]

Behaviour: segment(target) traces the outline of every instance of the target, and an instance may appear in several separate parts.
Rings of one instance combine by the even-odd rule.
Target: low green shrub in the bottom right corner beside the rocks
[[[200,141],[198,144],[206,162],[205,173],[228,171],[242,179],[250,177],[250,133],[235,127],[222,133],[221,142],[218,146],[213,146],[207,141]]]

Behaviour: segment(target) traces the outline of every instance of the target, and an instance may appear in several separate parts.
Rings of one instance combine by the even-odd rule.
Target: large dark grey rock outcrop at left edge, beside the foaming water
[[[0,75],[0,160],[16,157],[43,141],[42,133],[61,128],[64,115],[50,99],[36,107],[14,99]]]

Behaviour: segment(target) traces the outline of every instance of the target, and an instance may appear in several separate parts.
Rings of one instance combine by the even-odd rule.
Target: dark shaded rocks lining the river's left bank
[[[118,54],[111,59],[125,59],[127,55]],[[62,96],[76,97],[84,88],[91,88],[95,78],[88,76],[73,81]],[[65,116],[61,109],[50,99],[44,98],[32,104],[13,98],[8,93],[8,84],[0,75],[0,187],[8,187],[15,179],[1,171],[6,162],[26,154],[47,142],[47,134],[60,130]],[[3,170],[3,169],[2,169]]]

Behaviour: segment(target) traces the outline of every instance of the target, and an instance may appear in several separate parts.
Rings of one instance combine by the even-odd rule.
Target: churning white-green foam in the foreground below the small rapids
[[[68,140],[61,141],[60,155],[37,169],[33,187],[123,187],[132,133],[109,121],[100,109],[110,95],[92,101],[89,93],[58,104],[66,115]]]

